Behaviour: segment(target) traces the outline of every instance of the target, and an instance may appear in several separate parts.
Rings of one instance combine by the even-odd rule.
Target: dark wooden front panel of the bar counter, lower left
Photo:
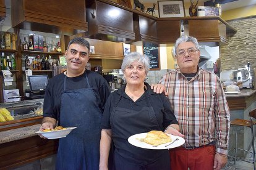
[[[59,139],[47,140],[39,136],[14,140],[0,145],[0,169],[12,169],[57,153]],[[19,168],[18,168],[19,169]]]

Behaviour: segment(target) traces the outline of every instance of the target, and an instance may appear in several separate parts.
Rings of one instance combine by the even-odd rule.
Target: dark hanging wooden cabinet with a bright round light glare
[[[135,39],[132,12],[101,1],[86,1],[88,32],[85,37],[106,41]]]

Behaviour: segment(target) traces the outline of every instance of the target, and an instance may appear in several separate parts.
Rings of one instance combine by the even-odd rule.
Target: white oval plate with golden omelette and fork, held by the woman
[[[185,140],[162,131],[150,131],[130,136],[128,142],[135,147],[158,150],[179,147],[185,143]]]

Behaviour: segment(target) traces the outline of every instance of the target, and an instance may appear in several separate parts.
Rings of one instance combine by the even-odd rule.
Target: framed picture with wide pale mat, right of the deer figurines
[[[185,17],[184,2],[182,1],[157,1],[160,18]]]

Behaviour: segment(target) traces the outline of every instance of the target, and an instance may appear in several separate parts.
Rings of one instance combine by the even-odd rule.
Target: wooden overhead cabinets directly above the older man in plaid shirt
[[[160,43],[174,43],[182,33],[194,36],[199,42],[223,42],[236,29],[220,17],[158,18],[157,33]]]

